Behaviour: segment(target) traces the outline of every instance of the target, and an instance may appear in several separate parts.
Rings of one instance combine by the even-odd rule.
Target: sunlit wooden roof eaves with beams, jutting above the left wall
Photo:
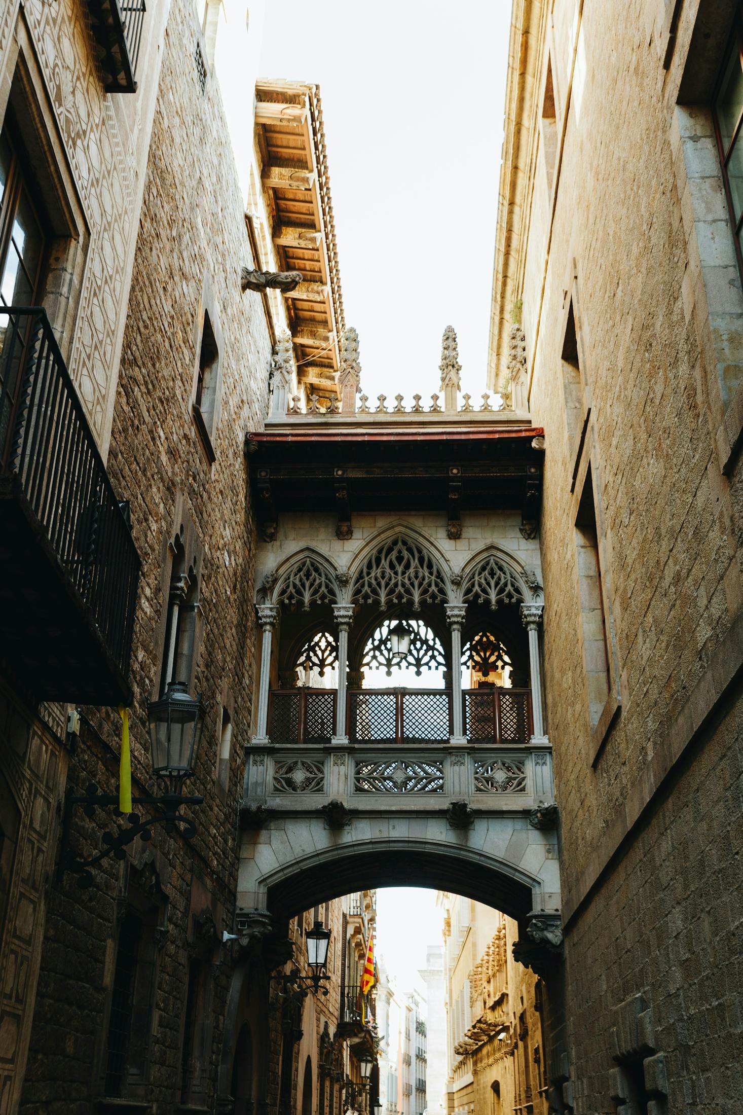
[[[300,381],[338,396],[339,337],[345,322],[320,89],[258,81],[255,138],[281,271],[305,281],[284,293]]]

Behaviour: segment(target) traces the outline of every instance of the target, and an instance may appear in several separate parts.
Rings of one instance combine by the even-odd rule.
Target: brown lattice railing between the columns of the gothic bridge
[[[273,744],[326,744],[334,735],[334,689],[277,689],[271,694],[268,736]],[[529,689],[467,689],[465,734],[472,744],[528,744]],[[351,689],[346,730],[354,744],[440,744],[452,730],[448,689]]]

